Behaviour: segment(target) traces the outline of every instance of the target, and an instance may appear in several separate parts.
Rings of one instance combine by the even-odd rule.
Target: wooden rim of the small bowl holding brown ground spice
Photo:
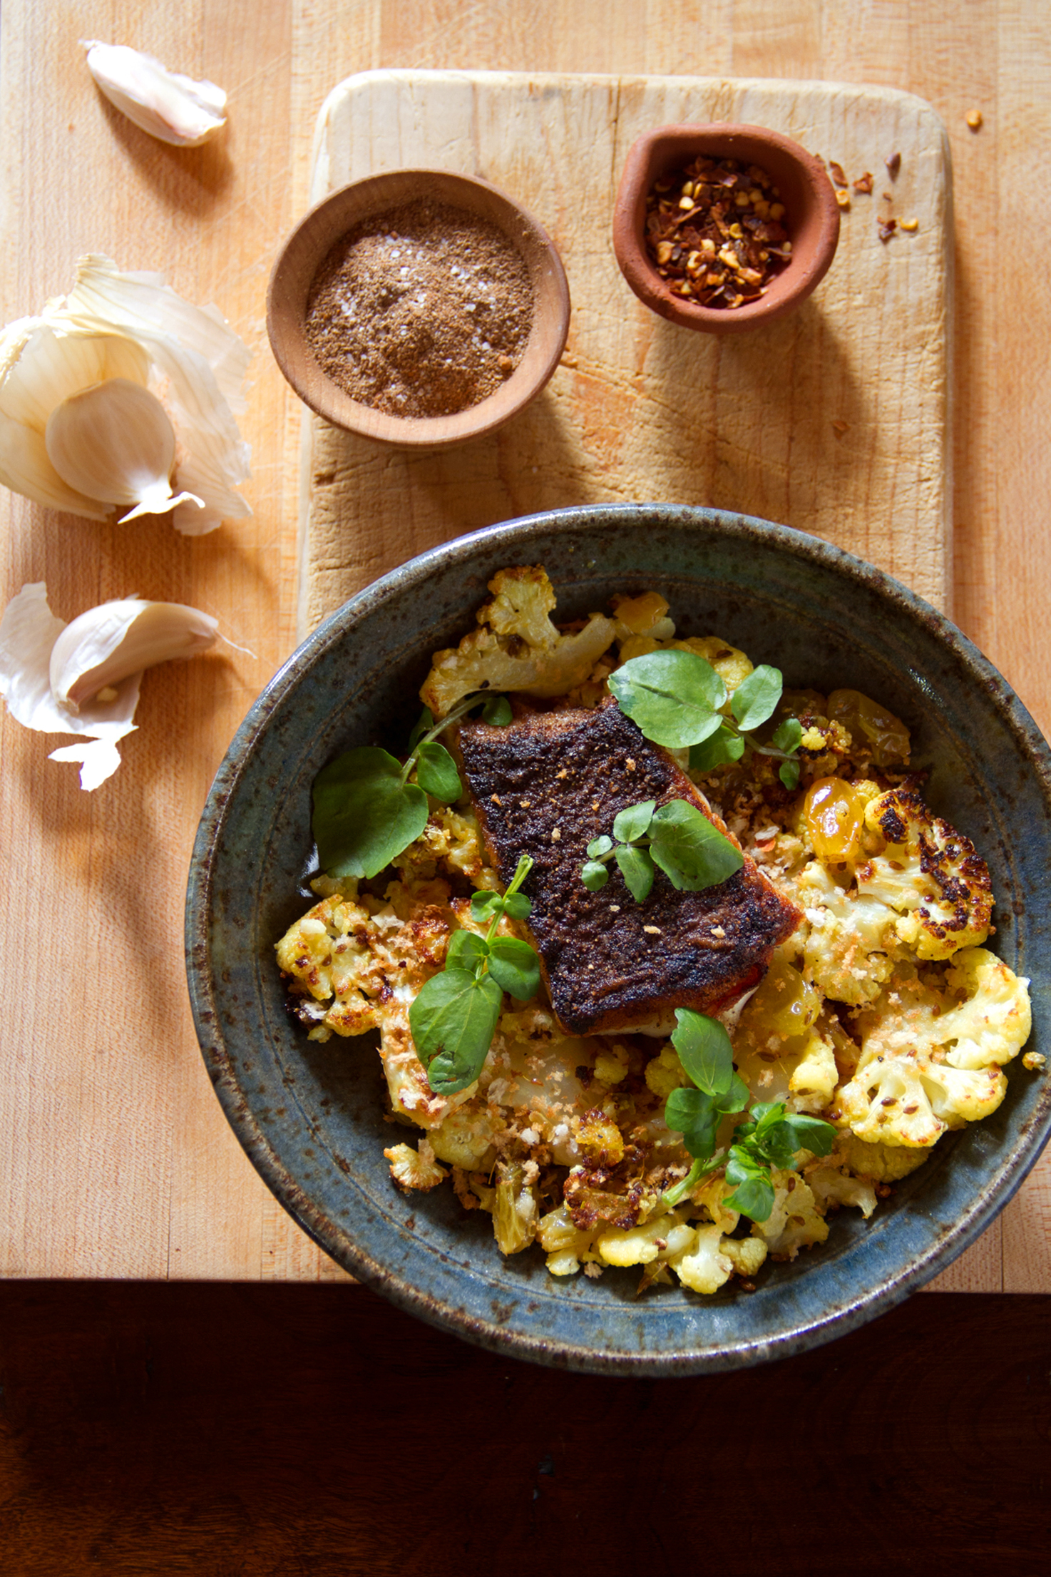
[[[306,284],[306,289],[309,289],[309,282],[317,274],[317,268],[326,252],[339,240],[339,235],[334,235],[325,241],[323,248],[310,246],[310,240],[326,214],[339,213],[351,200],[351,194],[364,199],[361,210],[355,213],[345,227],[353,229],[355,224],[372,214],[389,211],[403,202],[411,202],[413,196],[419,196],[418,188],[421,180],[436,181],[443,188],[457,189],[460,194],[481,194],[484,199],[488,199],[487,207],[503,208],[509,218],[514,216],[518,238],[525,232],[528,241],[525,249],[518,244],[507,224],[492,222],[515,246],[529,268],[534,301],[539,301],[540,292],[545,293],[550,303],[550,325],[555,328],[555,333],[540,339],[536,334],[534,314],[534,331],[526,342],[526,352],[507,382],[493,394],[479,401],[477,405],[468,405],[466,410],[455,412],[451,416],[394,416],[389,412],[366,405],[340,390],[337,383],[326,377],[320,363],[314,360],[303,333],[304,303],[298,301],[298,293],[295,300],[290,293],[290,262],[295,263],[301,259],[307,263],[314,262]],[[399,189],[403,189],[403,194],[399,194]],[[373,194],[375,202],[370,200]],[[457,207],[452,191],[444,191],[440,200],[448,202],[449,207]],[[479,211],[468,202],[462,203],[462,207],[466,213]],[[314,255],[315,252],[317,257]],[[403,449],[441,449],[466,443],[471,438],[484,437],[515,416],[551,378],[566,349],[569,322],[570,298],[566,268],[555,241],[536,214],[501,186],[495,186],[481,175],[466,175],[462,170],[430,166],[375,170],[372,175],[359,177],[328,192],[304,213],[284,240],[274,259],[266,287],[266,333],[269,347],[282,375],[304,405],[345,432]],[[317,383],[304,382],[299,375],[299,361],[317,369]]]

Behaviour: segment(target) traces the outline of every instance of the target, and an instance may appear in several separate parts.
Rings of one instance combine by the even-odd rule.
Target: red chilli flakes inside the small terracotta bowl
[[[737,308],[791,260],[785,205],[758,164],[700,156],[646,197],[646,249],[673,295]]]

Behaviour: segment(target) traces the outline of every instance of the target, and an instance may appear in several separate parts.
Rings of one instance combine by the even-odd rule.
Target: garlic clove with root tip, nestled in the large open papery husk
[[[203,509],[195,494],[173,494],[175,427],[150,390],[107,378],[57,405],[44,429],[47,459],[71,487],[104,503],[131,503],[123,514],[164,514],[181,503]]]

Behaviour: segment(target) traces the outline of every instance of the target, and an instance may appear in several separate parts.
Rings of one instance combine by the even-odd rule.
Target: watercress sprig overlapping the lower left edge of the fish
[[[504,915],[525,919],[531,904],[520,886],[533,869],[523,855],[506,893],[476,893],[471,919],[488,930],[454,930],[441,973],[424,982],[408,1009],[416,1053],[435,1094],[474,1083],[493,1042],[504,992],[526,1001],[540,987],[540,964],[528,941],[498,937]]]

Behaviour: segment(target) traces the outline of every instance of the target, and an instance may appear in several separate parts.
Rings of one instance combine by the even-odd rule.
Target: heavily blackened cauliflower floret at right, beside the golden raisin
[[[895,910],[895,930],[920,959],[947,959],[990,934],[993,886],[974,844],[915,788],[889,788],[865,807],[865,826],[884,842],[857,869],[857,891]]]

